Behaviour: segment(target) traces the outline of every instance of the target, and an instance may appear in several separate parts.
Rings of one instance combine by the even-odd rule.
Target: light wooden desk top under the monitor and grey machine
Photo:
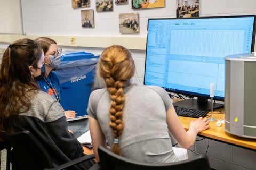
[[[215,113],[213,114],[214,118],[217,118],[217,120],[219,120],[221,117],[221,119],[224,120],[223,112],[221,114],[218,114],[218,112],[214,112],[214,113]],[[195,120],[195,118],[179,116],[179,120],[181,121],[183,127],[186,130],[188,130],[190,121]],[[256,139],[242,138],[242,137],[237,137],[236,135],[230,134],[225,131],[224,124],[222,124],[220,127],[216,126],[216,121],[210,122],[210,128],[201,133],[198,133],[198,135],[256,150]]]

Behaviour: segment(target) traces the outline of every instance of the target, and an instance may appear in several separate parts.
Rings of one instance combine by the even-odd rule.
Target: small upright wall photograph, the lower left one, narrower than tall
[[[81,20],[83,28],[94,28],[94,11],[81,10]]]

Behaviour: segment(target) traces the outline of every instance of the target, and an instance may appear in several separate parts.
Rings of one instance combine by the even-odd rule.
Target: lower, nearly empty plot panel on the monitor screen
[[[224,64],[169,60],[167,83],[180,86],[209,89],[214,83],[215,89],[224,91]]]

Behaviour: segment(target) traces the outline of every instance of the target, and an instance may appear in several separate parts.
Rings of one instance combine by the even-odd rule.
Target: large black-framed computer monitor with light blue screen
[[[254,50],[255,15],[150,18],[147,31],[144,84],[190,97],[174,106],[209,111],[211,83],[224,101],[224,57]]]

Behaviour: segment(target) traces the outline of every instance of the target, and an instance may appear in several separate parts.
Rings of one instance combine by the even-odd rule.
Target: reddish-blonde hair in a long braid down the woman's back
[[[122,121],[125,104],[123,87],[133,77],[135,64],[129,50],[123,46],[113,45],[103,50],[98,69],[99,74],[105,80],[111,98],[109,125],[113,129],[114,138],[119,139],[124,129]],[[112,151],[121,155],[118,143],[114,143]]]

